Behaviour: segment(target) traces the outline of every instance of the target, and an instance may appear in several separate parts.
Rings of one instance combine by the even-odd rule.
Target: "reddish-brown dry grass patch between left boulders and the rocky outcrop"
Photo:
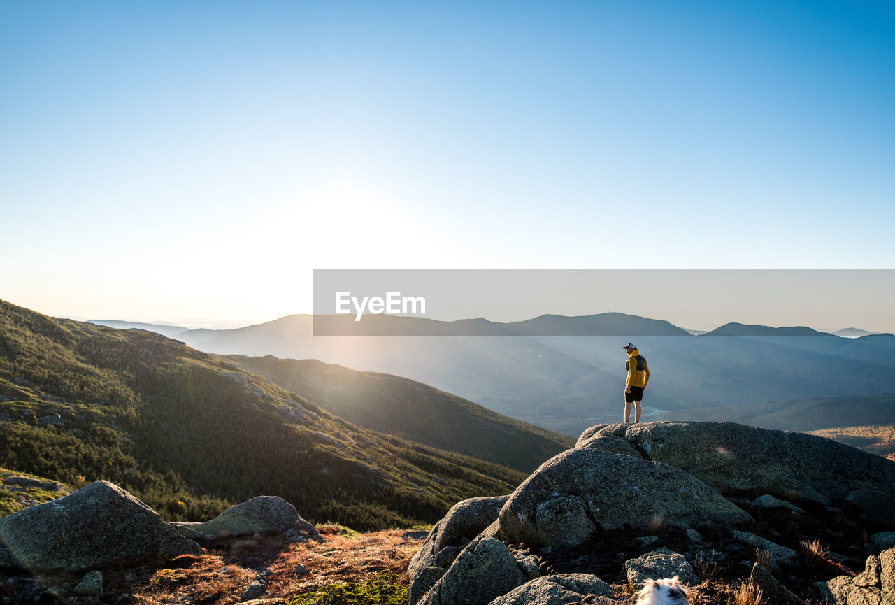
[[[402,530],[362,533],[357,537],[329,535],[327,541],[291,544],[278,536],[253,536],[217,541],[200,557],[177,558],[162,569],[109,578],[115,592],[129,592],[146,605],[201,602],[230,605],[239,602],[263,567],[274,575],[263,598],[291,599],[339,582],[366,582],[389,571],[406,583],[407,565],[422,545],[403,538]],[[308,569],[294,574],[299,564]]]

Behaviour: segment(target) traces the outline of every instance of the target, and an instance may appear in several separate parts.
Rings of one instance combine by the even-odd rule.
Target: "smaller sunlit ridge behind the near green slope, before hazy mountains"
[[[391,374],[314,359],[227,356],[245,370],[300,393],[366,429],[531,473],[575,439],[491,412],[462,397]]]

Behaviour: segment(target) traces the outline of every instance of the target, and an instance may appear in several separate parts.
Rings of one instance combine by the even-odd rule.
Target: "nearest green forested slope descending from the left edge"
[[[431,523],[524,474],[364,430],[215,355],[0,301],[0,466],[107,479],[168,519],[260,494],[359,529]]]

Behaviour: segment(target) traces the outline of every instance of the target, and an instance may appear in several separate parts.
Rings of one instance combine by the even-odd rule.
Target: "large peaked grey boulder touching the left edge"
[[[0,564],[30,569],[95,567],[145,555],[202,552],[155,511],[108,481],[0,519],[0,541],[7,558]]]

